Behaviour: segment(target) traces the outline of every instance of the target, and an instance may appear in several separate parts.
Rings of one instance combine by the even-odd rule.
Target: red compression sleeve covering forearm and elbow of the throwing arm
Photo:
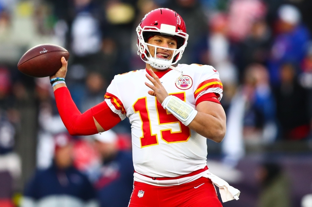
[[[54,96],[61,119],[71,135],[92,135],[98,133],[91,109],[81,114],[67,87],[56,89]]]

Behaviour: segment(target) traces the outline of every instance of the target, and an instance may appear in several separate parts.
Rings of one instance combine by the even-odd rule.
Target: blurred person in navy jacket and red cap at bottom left
[[[55,136],[53,165],[37,170],[25,188],[22,207],[95,207],[95,191],[88,178],[72,166],[73,138]]]

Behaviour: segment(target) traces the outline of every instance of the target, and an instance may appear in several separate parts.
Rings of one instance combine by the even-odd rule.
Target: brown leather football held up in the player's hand
[[[40,44],[22,56],[17,68],[32,77],[52,76],[62,67],[62,57],[68,61],[69,52],[65,48],[54,44]]]

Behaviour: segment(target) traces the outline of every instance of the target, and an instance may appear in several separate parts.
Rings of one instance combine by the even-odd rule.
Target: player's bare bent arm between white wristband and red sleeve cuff
[[[197,115],[188,125],[198,134],[221,142],[226,133],[226,115],[221,104],[212,101],[202,101],[196,106]]]

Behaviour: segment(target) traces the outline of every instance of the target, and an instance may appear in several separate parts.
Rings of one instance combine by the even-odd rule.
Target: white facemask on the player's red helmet
[[[171,25],[168,25],[171,26]],[[166,27],[165,27],[166,28]],[[168,31],[168,30],[162,30],[158,29],[157,27],[153,26],[144,26],[143,28],[140,27],[140,25],[137,27],[137,34],[138,34],[138,55],[140,55],[141,59],[150,64],[152,67],[160,70],[167,69],[169,66],[172,66],[176,64],[181,58],[182,54],[184,52],[184,49],[187,45],[187,40],[188,40],[188,34],[178,31]],[[167,29],[167,28],[166,28]],[[169,28],[170,29],[170,28]],[[177,38],[177,49],[172,49],[172,48],[164,48],[164,47],[159,47],[153,44],[146,43],[144,40],[144,33],[147,32],[152,32],[153,34],[164,34],[164,35],[170,35],[174,36]],[[180,41],[179,39],[183,39],[183,41]],[[183,43],[181,43],[183,42]],[[179,44],[180,43],[180,44]],[[181,46],[180,46],[181,45]],[[155,52],[154,56],[150,53],[148,46],[154,47]],[[179,47],[180,46],[180,47]],[[157,53],[157,48],[165,49],[165,50],[172,50],[173,55],[170,59],[162,59],[162,58],[157,58],[156,53]]]

